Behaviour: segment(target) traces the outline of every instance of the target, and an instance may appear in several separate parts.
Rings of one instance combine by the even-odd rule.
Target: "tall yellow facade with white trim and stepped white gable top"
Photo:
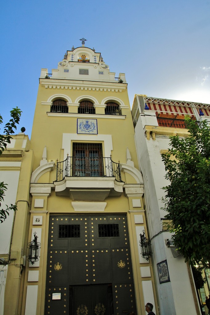
[[[78,61],[83,52],[84,55],[88,56],[90,62],[83,63]],[[26,167],[23,169],[23,172],[25,172],[23,174],[29,176],[29,174],[31,175],[29,169],[30,167],[32,168],[31,179],[29,180],[28,178],[28,185],[30,182],[30,222],[28,226],[25,221],[23,224],[20,220],[21,209],[19,210],[19,208],[16,214],[17,221],[15,221],[17,228],[17,230],[14,230],[15,236],[19,235],[20,230],[23,233],[24,231],[28,233],[26,242],[24,242],[24,237],[21,235],[22,242],[24,242],[22,247],[25,255],[27,243],[33,240],[33,233],[37,233],[38,242],[41,243],[40,258],[33,265],[31,262],[26,261],[26,266],[23,267],[24,271],[21,275],[20,268],[17,268],[15,273],[12,269],[13,266],[9,266],[4,314],[44,315],[55,313],[51,291],[49,301],[45,299],[47,295],[46,287],[51,288],[51,280],[49,280],[48,276],[51,267],[52,273],[56,274],[56,268],[49,266],[51,263],[49,258],[51,257],[49,256],[51,253],[50,249],[54,249],[54,243],[56,242],[55,233],[53,234],[55,230],[53,230],[52,225],[54,221],[52,220],[55,220],[55,222],[59,220],[63,224],[63,221],[70,220],[70,218],[72,218],[71,220],[80,218],[81,221],[90,220],[90,225],[93,225],[93,218],[99,221],[107,220],[111,223],[112,221],[110,220],[119,221],[121,219],[121,221],[125,220],[125,226],[127,222],[127,230],[125,227],[124,231],[127,231],[128,235],[125,232],[125,235],[120,235],[120,237],[123,237],[123,242],[126,246],[129,246],[128,238],[130,241],[128,251],[131,251],[131,263],[129,266],[132,264],[132,269],[128,268],[128,275],[133,273],[135,291],[133,294],[135,293],[136,306],[132,304],[133,299],[131,300],[131,308],[127,310],[124,308],[124,312],[137,312],[138,315],[144,314],[145,302],[153,302],[156,306],[155,312],[158,314],[151,261],[150,259],[146,261],[141,257],[141,248],[139,246],[139,234],[143,230],[147,237],[148,234],[144,211],[143,180],[141,173],[138,171],[134,128],[125,75],[120,74],[120,77],[115,80],[115,74],[109,71],[109,67],[100,58],[100,54],[84,47],[84,45],[73,51],[68,51],[67,56],[67,59],[63,59],[58,64],[58,69],[53,69],[51,77],[47,74],[46,69],[42,69],[41,72],[30,147],[34,158],[32,159],[31,153],[31,164],[29,163],[30,165],[28,165],[26,161]],[[87,71],[89,71],[88,75]],[[80,72],[86,74],[81,74],[81,78],[79,77],[80,74],[75,75],[75,73]],[[104,78],[100,76],[104,76]],[[120,78],[123,81],[122,83]],[[60,112],[56,110],[53,112],[52,106],[55,100],[66,101],[67,105],[65,106],[68,107],[68,111]],[[93,103],[95,113],[78,113],[78,108],[79,106],[81,107],[80,102],[83,100]],[[109,114],[105,114],[108,102],[114,103],[114,106],[117,106],[116,108],[121,114],[119,115],[114,110]],[[81,128],[83,128],[81,130],[79,123],[81,123]],[[86,127],[84,127],[85,123],[87,123]],[[89,128],[87,126],[90,123],[95,126],[92,133],[90,130],[87,131],[85,129]],[[82,156],[77,155],[80,154],[78,152],[81,152],[81,150],[79,151],[79,149],[75,148],[82,147],[86,150],[89,144],[100,147],[102,157],[101,159],[94,157],[95,173],[89,172],[89,175],[85,175],[85,171],[81,171],[81,168],[86,163],[84,161],[90,161],[90,156],[85,157],[84,160]],[[91,154],[96,154],[96,149],[93,149],[92,152]],[[65,176],[65,166],[58,164],[62,176],[59,180],[56,180],[57,161],[60,163],[66,160],[67,157],[69,158],[68,161],[70,161],[67,176]],[[73,163],[76,163],[75,159],[78,161],[79,158],[80,164],[75,164],[77,165],[75,166]],[[112,169],[110,175],[107,161],[111,162],[111,160],[116,163],[113,164],[116,165],[116,172]],[[100,165],[103,167],[103,174],[99,174],[98,169]],[[75,170],[76,168],[77,175],[74,176],[73,169]],[[119,169],[121,181],[116,175],[119,175]],[[26,187],[25,189],[20,187],[20,190],[24,191],[25,196],[23,198],[28,198],[29,200],[29,192]],[[26,209],[23,209],[23,211],[26,213]],[[59,229],[60,226],[61,224]],[[52,231],[50,230],[51,228]],[[52,234],[49,233],[49,230]],[[52,238],[52,243],[50,243],[50,237]],[[87,236],[85,237],[87,239],[88,237],[90,238],[90,248],[94,250],[94,243],[99,237],[96,237],[95,234],[94,237],[93,235],[91,236],[91,231],[87,231]],[[89,241],[84,240],[84,242],[87,245]],[[123,248],[121,250],[125,251],[125,248]],[[17,250],[20,250],[20,247],[17,247]],[[111,247],[108,250],[111,250]],[[117,247],[112,249],[112,251],[118,251]],[[120,268],[123,269],[125,265],[125,262],[121,261],[122,265],[117,269],[117,272],[121,270]],[[110,264],[112,265],[113,261]],[[60,262],[57,262],[57,265],[62,267]],[[101,268],[102,262],[99,265]],[[11,290],[14,278],[18,272],[18,285],[14,288],[14,295],[17,294],[20,299],[19,302],[14,299],[13,302],[8,292]],[[78,277],[79,273],[78,270]],[[92,279],[93,275],[90,276],[89,271],[87,271],[87,277],[87,281],[91,283],[94,281]],[[100,275],[98,277],[100,278]],[[128,277],[128,279],[132,284],[131,277]],[[100,283],[100,280],[98,280],[98,283]],[[69,285],[71,286],[71,283]],[[92,284],[92,286],[94,285]],[[60,289],[62,290],[62,288]],[[59,289],[56,288],[55,291],[57,292],[57,290]],[[115,297],[116,291],[114,291],[113,285],[114,303],[117,299],[117,295]],[[62,295],[63,300],[60,303],[68,305],[68,297],[64,295]],[[48,302],[50,303],[49,306],[47,306]],[[66,307],[66,305],[64,306]],[[115,315],[123,313],[123,309],[119,311],[118,309],[119,307],[114,304]],[[60,314],[62,313],[72,314],[70,306],[64,311],[61,310]]]

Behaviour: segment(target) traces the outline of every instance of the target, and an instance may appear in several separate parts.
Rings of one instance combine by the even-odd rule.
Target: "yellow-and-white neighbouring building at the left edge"
[[[29,138],[24,133],[13,135],[11,143],[7,144],[5,150],[0,156],[0,181],[7,185],[4,196],[4,202],[1,204],[2,209],[6,205],[16,204],[21,216],[21,226],[27,224],[27,214],[29,205],[29,180],[31,175],[30,161],[32,158],[29,152]],[[23,175],[25,169],[27,175]],[[16,268],[20,265],[23,268],[23,246],[25,244],[25,229],[18,229],[19,238],[13,238],[15,213],[9,212],[6,220],[0,224],[0,315],[3,315],[4,309],[4,291],[8,265]],[[13,248],[11,244],[13,243]],[[18,248],[20,249],[18,251]],[[19,279],[13,282],[14,288],[18,287]]]

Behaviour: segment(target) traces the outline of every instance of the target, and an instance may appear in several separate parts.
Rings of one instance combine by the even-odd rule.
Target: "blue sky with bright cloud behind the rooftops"
[[[210,0],[4,1],[0,113],[22,110],[31,135],[41,68],[57,68],[72,46],[101,52],[135,94],[210,103]],[[2,129],[1,129],[2,130]]]

